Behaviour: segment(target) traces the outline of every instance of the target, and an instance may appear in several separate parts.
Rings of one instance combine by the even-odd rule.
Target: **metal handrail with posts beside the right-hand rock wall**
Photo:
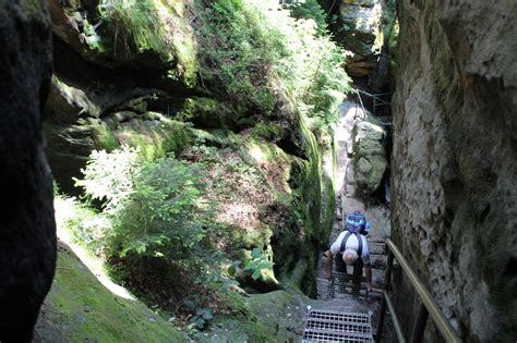
[[[421,306],[419,309],[419,316],[418,320],[414,324],[412,336],[411,336],[411,342],[419,342],[422,339],[423,331],[425,329],[425,322],[428,319],[428,315],[431,315],[431,319],[434,321],[436,328],[438,331],[442,333],[442,336],[445,339],[447,342],[461,342],[459,339],[458,334],[454,331],[454,329],[450,327],[449,322],[443,315],[442,310],[440,309],[438,305],[436,302],[433,299],[431,293],[425,289],[423,283],[420,281],[420,279],[417,277],[417,273],[412,270],[411,266],[409,262],[406,260],[404,255],[400,253],[400,250],[397,248],[395,243],[387,238],[386,240],[386,245],[389,249],[388,252],[388,265],[386,266],[386,277],[385,277],[385,284],[384,284],[384,291],[387,292],[389,287],[389,280],[390,280],[390,273],[392,273],[392,266],[393,266],[393,260],[394,257],[397,259],[398,264],[402,268],[404,272],[406,273],[411,286],[417,291],[417,294],[419,298],[421,299]],[[384,311],[386,310],[386,298],[383,297],[383,301],[381,303],[381,314],[380,314],[380,320],[378,320],[378,326],[377,326],[377,341],[381,340],[382,336],[382,327],[383,327],[383,321],[384,321]],[[392,313],[392,316],[396,317],[395,313]],[[396,320],[398,321],[398,320]]]

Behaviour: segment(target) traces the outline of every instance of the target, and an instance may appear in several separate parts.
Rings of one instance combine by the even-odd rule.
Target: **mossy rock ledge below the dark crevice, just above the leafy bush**
[[[52,174],[63,192],[77,194],[72,177],[81,177],[93,150],[111,151],[122,145],[140,147],[153,160],[167,152],[179,152],[192,140],[190,127],[161,113],[131,111],[103,119],[80,119],[73,125],[44,123]]]

